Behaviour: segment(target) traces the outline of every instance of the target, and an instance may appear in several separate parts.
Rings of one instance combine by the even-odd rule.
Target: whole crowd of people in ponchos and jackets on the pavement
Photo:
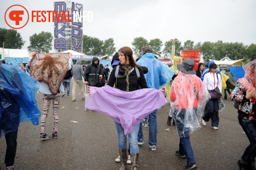
[[[230,100],[238,103],[239,124],[250,142],[241,159],[238,160],[239,168],[255,169],[256,60],[243,66],[245,76],[239,79],[237,84],[227,67],[225,75],[228,78],[223,86],[223,75],[214,61],[205,64],[205,67],[203,63],[199,63],[198,70],[195,71],[195,62],[191,59],[183,60],[175,56],[174,64],[168,67],[157,59],[151,46],[144,46],[141,51],[142,57],[135,61],[130,47],[120,48],[113,56],[110,68],[109,65],[104,67],[100,64],[97,57],[92,59],[91,65],[82,65],[79,59],[74,65],[71,53],[51,55],[32,52],[28,64],[19,64],[18,69],[12,69],[14,66],[11,65],[6,66],[5,61],[1,60],[0,87],[3,88],[0,88],[0,101],[2,102],[0,116],[14,113],[16,115],[15,117],[9,116],[9,119],[0,119],[0,137],[5,136],[7,141],[6,169],[14,169],[17,129],[19,123],[23,122],[18,119],[19,114],[27,114],[34,125],[39,124],[38,119],[41,117],[40,140],[58,137],[59,103],[61,96],[66,95],[65,87],[67,87],[67,96],[70,96],[71,81],[73,102],[76,101],[78,84],[81,100],[86,100],[86,108],[108,114],[114,120],[119,150],[115,161],[121,162],[119,170],[127,169],[127,164],[132,164],[131,169],[139,169],[139,145],[144,143],[142,125],[149,127],[148,145],[150,149],[157,150],[157,110],[166,103],[170,105],[167,124],[176,126],[180,138],[179,148],[175,154],[187,160],[185,170],[196,169],[195,156],[189,139],[190,132],[200,128],[200,123],[205,126],[210,119],[211,128],[219,129],[219,112],[225,107],[222,99],[227,100],[227,92]],[[28,82],[19,82],[17,77],[4,76],[6,70],[16,71],[22,77],[29,79],[35,87],[18,89],[27,86]],[[19,83],[19,86],[11,82]],[[86,97],[86,91],[83,90],[83,84],[88,85],[88,97]],[[11,86],[13,91],[7,86]],[[224,98],[222,98],[222,89],[224,89]],[[30,109],[31,113],[27,113],[27,105],[24,106],[21,101],[15,99],[16,91],[14,90],[22,95],[21,99],[29,101],[33,106],[33,110]],[[28,98],[24,95],[28,93],[26,91],[32,91],[33,95]],[[37,108],[36,91],[43,94],[42,113]],[[108,104],[111,98],[115,100],[111,101],[109,108],[94,105],[95,99]],[[134,99],[136,103],[132,103]],[[122,105],[121,101],[125,101],[125,105]],[[46,119],[51,102],[53,103],[54,126],[52,134],[47,135]],[[142,102],[147,109],[139,107],[138,103]],[[11,103],[14,109],[6,107],[4,103]],[[131,113],[131,109],[135,110]],[[6,123],[13,127],[6,129]],[[126,142],[127,137],[129,145]]]

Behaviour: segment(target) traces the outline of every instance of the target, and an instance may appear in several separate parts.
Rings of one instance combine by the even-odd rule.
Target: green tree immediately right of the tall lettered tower
[[[87,35],[83,35],[83,54],[92,55],[92,56],[101,56],[103,54],[103,41],[95,38],[90,37]]]

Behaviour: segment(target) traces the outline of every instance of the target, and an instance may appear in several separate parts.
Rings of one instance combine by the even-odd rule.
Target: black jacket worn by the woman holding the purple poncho
[[[116,82],[115,72],[116,72],[116,67],[111,71],[110,78],[108,81],[108,85],[111,87],[114,87],[114,84]],[[142,69],[139,68],[139,72],[140,72],[139,80],[136,75],[135,69],[130,73],[130,75],[129,75],[129,91],[138,90],[138,81],[139,81],[140,88],[148,88],[146,85],[146,79],[144,77],[144,73],[143,73]],[[121,65],[119,67],[118,75],[120,75],[120,76],[124,75],[124,69],[121,67]],[[126,91],[126,81],[124,78],[117,79],[117,88],[120,90]]]

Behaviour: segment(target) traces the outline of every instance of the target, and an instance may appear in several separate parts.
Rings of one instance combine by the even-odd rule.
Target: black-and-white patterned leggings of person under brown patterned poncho
[[[59,102],[60,102],[60,93],[56,95],[51,94],[44,94],[42,96],[42,116],[41,116],[41,133],[46,133],[46,118],[49,112],[49,106],[52,101],[52,108],[53,108],[53,118],[54,118],[54,128],[53,132],[58,131],[58,124],[59,124]]]

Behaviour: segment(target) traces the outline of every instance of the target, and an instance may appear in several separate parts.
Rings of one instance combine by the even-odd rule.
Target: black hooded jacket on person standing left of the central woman
[[[93,57],[92,59],[92,64],[89,65],[84,71],[84,81],[87,81],[89,83],[89,86],[94,86],[94,87],[99,87],[100,86],[100,80],[99,80],[99,75],[100,75],[100,67],[99,67],[99,62],[97,65],[94,64],[94,61],[99,59],[97,57]]]

